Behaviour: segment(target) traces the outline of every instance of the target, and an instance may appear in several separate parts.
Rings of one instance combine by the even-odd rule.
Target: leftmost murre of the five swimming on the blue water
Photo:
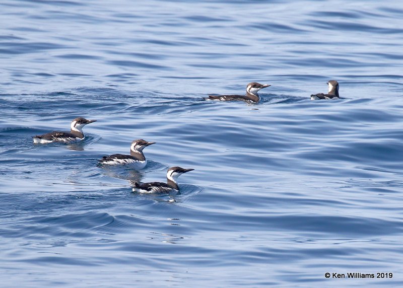
[[[53,131],[43,135],[32,136],[34,143],[51,143],[62,142],[70,143],[84,139],[83,127],[87,124],[95,122],[97,120],[87,120],[83,117],[78,117],[70,124],[70,132]]]

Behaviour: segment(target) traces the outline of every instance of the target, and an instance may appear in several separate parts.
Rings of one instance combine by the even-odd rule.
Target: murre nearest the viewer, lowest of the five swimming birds
[[[183,169],[180,167],[171,167],[167,172],[167,183],[163,182],[149,182],[149,183],[135,183],[133,192],[138,193],[169,193],[171,191],[179,192],[179,186],[176,179],[183,173],[193,171],[194,169]]]

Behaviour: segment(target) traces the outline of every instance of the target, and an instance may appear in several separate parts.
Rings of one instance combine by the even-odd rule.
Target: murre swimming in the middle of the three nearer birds
[[[133,140],[130,145],[130,155],[112,154],[109,156],[104,156],[101,160],[98,160],[99,164],[129,164],[134,169],[143,169],[147,165],[147,159],[143,154],[143,149],[153,144],[155,144],[155,142],[148,142],[143,139]]]

